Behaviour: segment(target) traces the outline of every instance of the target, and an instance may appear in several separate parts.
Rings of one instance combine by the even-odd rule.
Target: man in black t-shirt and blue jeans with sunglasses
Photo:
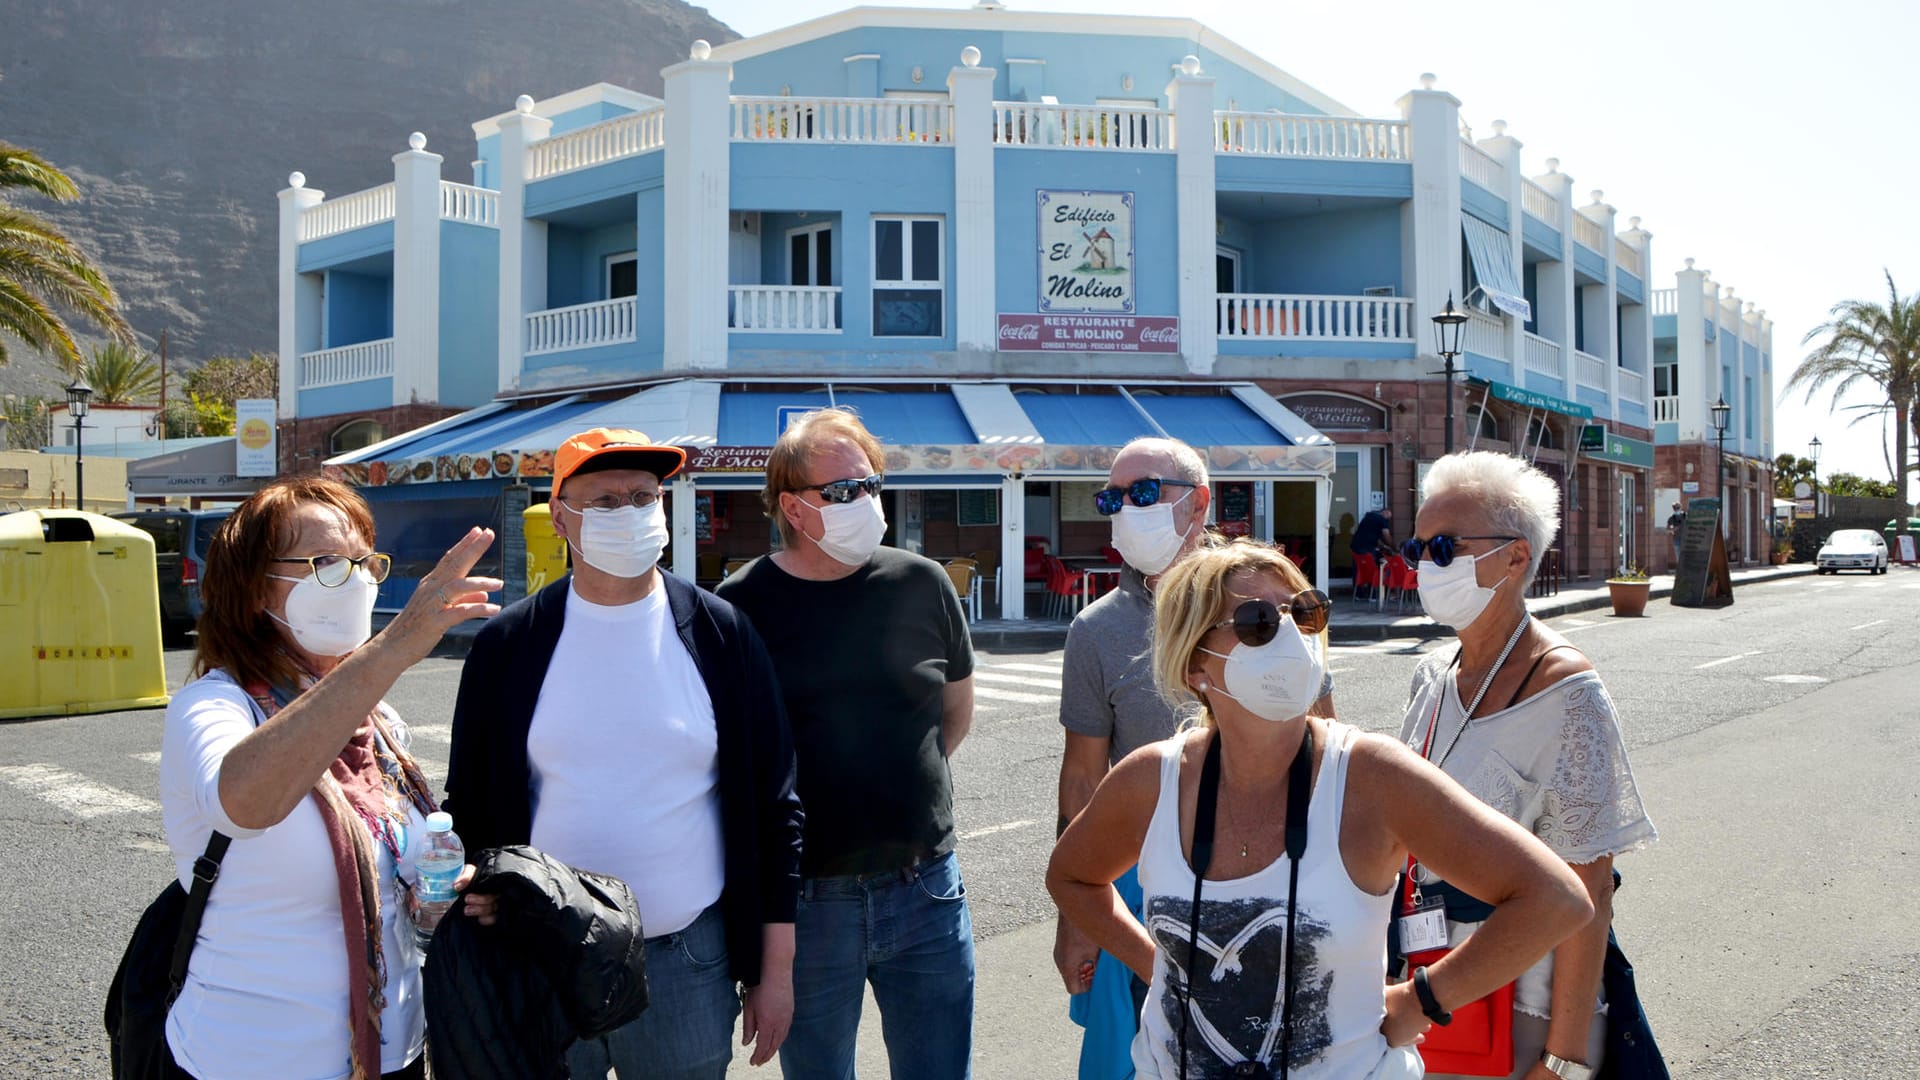
[[[851,1076],[872,982],[895,1076],[972,1074],[973,922],[947,759],[973,723],[973,644],[947,571],[881,548],[879,442],[841,409],[766,463],[781,550],[720,596],[780,675],[806,805],[785,1076]]]

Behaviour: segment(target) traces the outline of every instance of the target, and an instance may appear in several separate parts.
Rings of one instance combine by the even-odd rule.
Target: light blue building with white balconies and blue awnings
[[[837,404],[889,448],[889,542],[1006,567],[1008,617],[1033,544],[1100,553],[1137,434],[1202,448],[1219,527],[1331,584],[1446,442],[1450,298],[1455,440],[1561,479],[1565,573],[1655,544],[1649,233],[1432,77],[1363,117],[1192,19],[979,4],[689,42],[662,81],[522,96],[472,184],[417,135],[392,184],[280,192],[282,444],[403,563],[620,425],[695,452],[670,561],[712,580],[768,546],[785,415]]]

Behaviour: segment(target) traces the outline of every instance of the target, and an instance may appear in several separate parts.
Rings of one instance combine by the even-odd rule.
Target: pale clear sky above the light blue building
[[[854,6],[714,0],[756,35]],[[964,0],[899,0],[966,8]],[[1820,473],[1887,479],[1880,423],[1803,405],[1782,388],[1801,338],[1843,298],[1885,300],[1882,267],[1920,292],[1920,181],[1910,0],[1012,0],[1020,12],[1200,19],[1363,115],[1396,115],[1423,71],[1461,100],[1476,135],[1494,119],[1524,167],[1559,158],[1578,202],[1601,188],[1620,229],[1653,233],[1653,284],[1697,259],[1774,321],[1774,452],[1824,444]],[[1864,398],[1862,398],[1864,400]],[[1849,400],[1851,404],[1853,400]],[[1920,492],[1920,480],[1910,482]]]

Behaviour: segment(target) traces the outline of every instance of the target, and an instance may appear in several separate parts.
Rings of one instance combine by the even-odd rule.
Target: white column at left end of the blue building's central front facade
[[[726,265],[732,208],[732,65],[708,60],[693,42],[691,60],[666,79],[666,371],[726,367]]]

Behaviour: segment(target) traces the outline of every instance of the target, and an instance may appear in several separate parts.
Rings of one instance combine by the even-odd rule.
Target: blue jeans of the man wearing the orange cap
[[[685,930],[647,938],[647,1011],[566,1049],[574,1076],[603,1080],[722,1080],[733,1059],[739,992],[726,965],[720,905]]]

